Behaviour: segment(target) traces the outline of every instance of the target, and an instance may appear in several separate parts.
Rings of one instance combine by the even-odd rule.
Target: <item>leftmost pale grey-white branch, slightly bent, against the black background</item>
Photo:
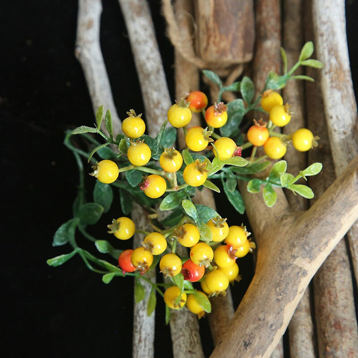
[[[114,105],[107,71],[99,43],[99,26],[102,4],[100,0],[79,0],[75,56],[85,75],[94,115],[103,104],[104,110],[110,109],[113,132],[122,133],[121,121]],[[107,130],[104,121],[101,128]]]

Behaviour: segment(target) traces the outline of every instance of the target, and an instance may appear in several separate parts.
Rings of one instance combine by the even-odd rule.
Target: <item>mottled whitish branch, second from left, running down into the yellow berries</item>
[[[145,0],[118,0],[128,30],[142,90],[149,135],[156,136],[171,99],[150,9]]]

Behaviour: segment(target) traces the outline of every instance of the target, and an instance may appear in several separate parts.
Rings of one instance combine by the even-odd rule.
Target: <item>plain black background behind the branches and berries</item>
[[[102,51],[123,118],[129,108],[143,112],[141,93],[118,2],[102,3]],[[164,35],[160,1],[150,5],[174,100],[172,47]],[[355,85],[357,8],[357,1],[347,3]],[[74,157],[62,145],[64,131],[93,122],[82,69],[74,57],[76,21],[75,0],[1,1],[0,160],[5,214],[1,326],[5,333],[0,352],[6,357],[131,355],[131,279],[117,278],[105,285],[77,257],[59,268],[46,264],[47,259],[70,251],[68,246],[51,246],[58,226],[71,218],[78,183]],[[242,273],[245,279],[236,285],[236,301],[251,274]],[[161,302],[156,317],[156,357],[171,357]],[[205,337],[209,333],[201,321]],[[212,346],[204,340],[209,355]]]

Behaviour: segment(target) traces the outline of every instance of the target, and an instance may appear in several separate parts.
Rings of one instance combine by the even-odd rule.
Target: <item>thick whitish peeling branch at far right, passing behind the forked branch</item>
[[[348,56],[344,0],[314,0],[317,54],[325,65],[322,93],[336,175],[358,154],[358,114]],[[358,281],[358,223],[347,234]]]

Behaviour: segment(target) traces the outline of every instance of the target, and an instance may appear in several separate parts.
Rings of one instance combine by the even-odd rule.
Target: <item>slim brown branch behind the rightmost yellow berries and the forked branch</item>
[[[302,0],[283,1],[283,39],[282,47],[286,51],[288,68],[298,60],[303,46]],[[316,71],[317,72],[317,71]],[[302,74],[299,68],[295,75]],[[317,73],[315,73],[317,75]],[[283,101],[291,105],[291,121],[283,127],[283,133],[290,135],[297,129],[305,128],[305,100],[302,81],[288,81],[282,89]],[[287,172],[297,174],[307,167],[306,153],[298,152],[293,145],[287,147],[284,157]],[[294,210],[307,209],[307,199],[286,190],[287,200]],[[290,355],[295,358],[314,358],[314,328],[310,308],[310,290],[306,289],[288,326]]]

